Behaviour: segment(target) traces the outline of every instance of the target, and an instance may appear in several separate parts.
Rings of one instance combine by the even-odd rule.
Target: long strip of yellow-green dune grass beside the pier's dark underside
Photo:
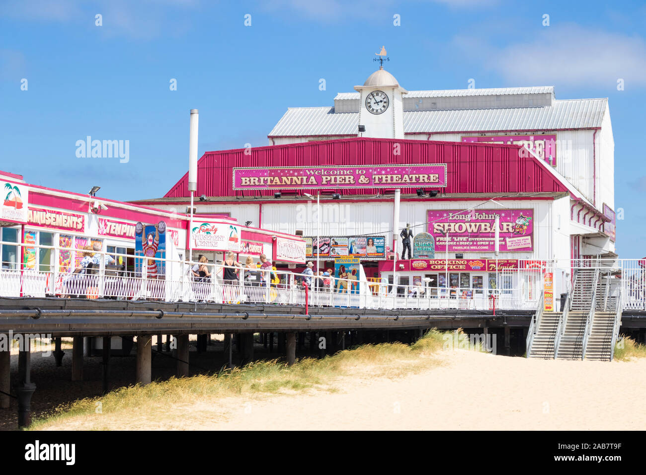
[[[441,364],[433,354],[446,347],[447,341],[468,341],[461,330],[439,332],[429,330],[412,345],[402,343],[364,344],[323,359],[302,358],[293,366],[273,359],[255,361],[242,368],[222,369],[216,374],[193,377],[171,377],[149,385],[118,388],[105,396],[80,399],[58,406],[40,417],[31,430],[47,429],[50,425],[75,416],[140,412],[163,414],[172,405],[192,404],[199,399],[220,397],[290,394],[311,388],[335,392],[335,377],[352,370],[365,371],[368,376],[401,377],[424,368]]]

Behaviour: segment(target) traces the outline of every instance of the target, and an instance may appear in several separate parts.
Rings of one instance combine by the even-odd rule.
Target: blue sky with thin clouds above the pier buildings
[[[0,32],[0,169],[79,193],[98,184],[118,200],[162,196],[185,173],[189,109],[200,109],[199,156],[267,145],[287,107],[331,105],[362,83],[381,45],[409,90],[474,78],[607,97],[625,218],[617,247],[646,255],[644,3],[23,0],[0,3]],[[129,162],[77,158],[88,135],[129,140]]]

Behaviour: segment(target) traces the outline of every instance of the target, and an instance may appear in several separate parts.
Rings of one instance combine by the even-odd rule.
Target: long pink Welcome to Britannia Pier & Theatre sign
[[[233,189],[446,187],[446,164],[233,169]]]

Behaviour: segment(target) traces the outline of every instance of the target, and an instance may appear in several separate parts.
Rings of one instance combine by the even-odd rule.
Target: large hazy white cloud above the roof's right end
[[[458,43],[481,44],[476,39]],[[646,83],[646,44],[637,35],[559,25],[542,28],[530,42],[475,48],[471,58],[484,59],[485,67],[514,84],[616,87],[621,78],[628,89]]]

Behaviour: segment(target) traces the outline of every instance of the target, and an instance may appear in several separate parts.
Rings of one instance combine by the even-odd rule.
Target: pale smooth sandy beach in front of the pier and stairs
[[[643,430],[646,360],[612,363],[441,352],[404,377],[357,369],[335,392],[202,399],[163,414],[74,417],[48,430]]]

